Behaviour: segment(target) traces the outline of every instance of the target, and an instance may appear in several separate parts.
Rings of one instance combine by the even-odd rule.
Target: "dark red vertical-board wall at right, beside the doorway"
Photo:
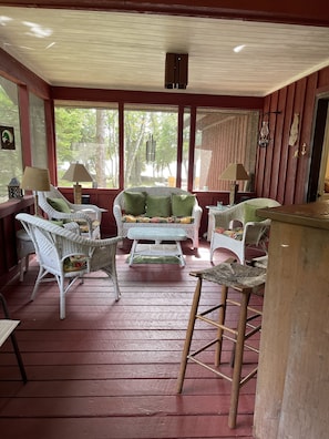
[[[271,142],[258,147],[256,165],[256,193],[276,198],[281,204],[305,203],[312,152],[312,125],[315,104],[320,92],[329,92],[329,68],[312,73],[292,84],[269,94],[265,99],[264,113],[270,114]],[[299,114],[298,139],[289,145],[294,114]],[[306,144],[306,154],[301,146]]]

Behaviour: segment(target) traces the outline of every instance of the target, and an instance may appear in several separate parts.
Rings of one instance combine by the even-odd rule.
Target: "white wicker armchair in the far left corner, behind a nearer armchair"
[[[50,203],[51,201],[62,201],[64,208],[62,211],[54,208],[53,205],[60,203]],[[81,234],[91,238],[101,237],[101,221],[104,210],[94,204],[73,204],[66,200],[63,194],[54,186],[50,186],[49,192],[38,192],[38,204],[47,214],[49,220],[75,221],[81,225]]]

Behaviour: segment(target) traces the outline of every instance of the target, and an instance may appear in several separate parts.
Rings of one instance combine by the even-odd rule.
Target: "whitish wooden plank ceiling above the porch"
[[[175,52],[188,53],[179,92],[264,96],[329,65],[327,27],[17,7],[0,7],[0,24],[1,48],[58,86],[172,93]]]

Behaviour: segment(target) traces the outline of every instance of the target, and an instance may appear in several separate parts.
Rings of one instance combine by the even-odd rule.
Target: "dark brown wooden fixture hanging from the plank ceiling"
[[[188,54],[166,53],[165,88],[186,89],[187,86]]]

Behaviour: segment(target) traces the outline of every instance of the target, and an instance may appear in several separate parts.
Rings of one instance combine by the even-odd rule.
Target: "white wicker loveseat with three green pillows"
[[[113,202],[120,236],[126,237],[131,227],[179,227],[194,248],[198,248],[202,212],[196,196],[178,187],[130,187]]]

